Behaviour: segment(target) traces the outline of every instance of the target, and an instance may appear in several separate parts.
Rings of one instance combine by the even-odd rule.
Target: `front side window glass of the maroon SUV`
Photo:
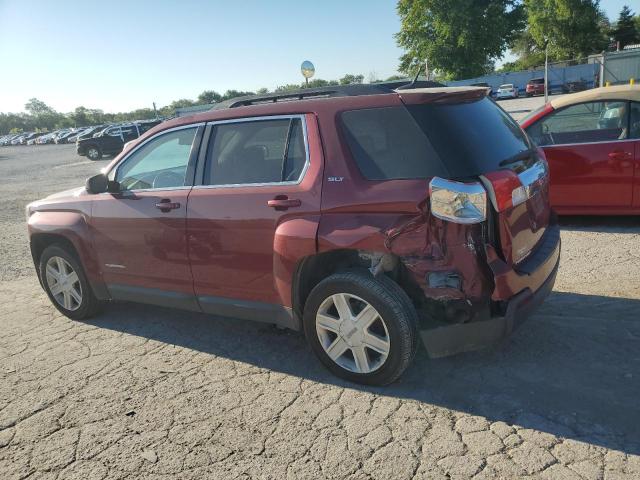
[[[159,135],[134,151],[116,171],[122,190],[175,188],[185,184],[197,127]]]

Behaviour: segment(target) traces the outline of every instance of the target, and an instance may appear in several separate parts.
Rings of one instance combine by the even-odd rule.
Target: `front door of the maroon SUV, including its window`
[[[93,243],[113,298],[197,309],[186,243],[197,131],[157,134],[109,173],[121,191],[96,196]]]

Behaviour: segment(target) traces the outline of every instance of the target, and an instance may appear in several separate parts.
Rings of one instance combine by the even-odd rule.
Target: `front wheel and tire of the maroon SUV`
[[[40,255],[40,280],[51,303],[73,320],[93,317],[100,302],[93,294],[78,259],[59,245],[51,245]]]

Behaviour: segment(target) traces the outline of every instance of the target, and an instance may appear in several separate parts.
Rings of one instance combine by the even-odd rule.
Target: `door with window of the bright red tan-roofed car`
[[[629,139],[628,112],[626,101],[586,102],[554,111],[527,129],[549,162],[552,207],[631,207],[635,142]]]

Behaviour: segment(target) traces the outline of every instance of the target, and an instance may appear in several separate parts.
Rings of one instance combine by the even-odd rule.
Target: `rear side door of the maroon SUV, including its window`
[[[322,159],[318,149],[309,151],[315,118],[209,128],[202,185],[187,212],[196,296],[210,313],[278,323],[269,315],[291,306],[295,262],[316,252]]]

